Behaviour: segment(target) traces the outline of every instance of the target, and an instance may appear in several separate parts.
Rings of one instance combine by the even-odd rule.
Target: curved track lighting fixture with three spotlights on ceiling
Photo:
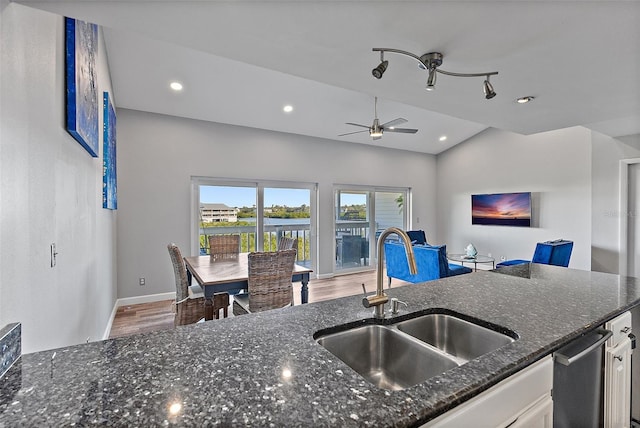
[[[443,55],[440,52],[429,52],[422,56],[418,56],[412,54],[411,52],[402,51],[399,49],[391,49],[391,48],[373,48],[374,52],[380,52],[380,65],[372,70],[372,74],[376,79],[380,79],[384,74],[387,66],[389,65],[389,61],[384,60],[385,52],[392,52],[401,55],[409,56],[420,63],[419,67],[423,70],[427,70],[429,76],[427,77],[427,91],[433,91],[436,86],[436,73],[446,74],[447,76],[453,77],[485,77],[484,83],[482,85],[484,89],[484,96],[486,99],[490,100],[491,98],[496,96],[496,91],[493,89],[493,85],[489,82],[489,77],[495,74],[498,74],[497,71],[490,71],[487,73],[453,73],[450,71],[441,70],[438,67],[442,65]]]

